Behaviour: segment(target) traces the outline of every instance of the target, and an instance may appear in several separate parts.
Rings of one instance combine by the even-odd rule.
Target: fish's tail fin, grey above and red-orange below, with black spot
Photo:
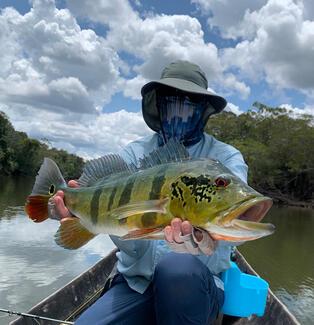
[[[34,222],[48,218],[48,201],[59,190],[66,187],[66,182],[57,164],[45,158],[42,163],[31,195],[27,197],[25,212]]]

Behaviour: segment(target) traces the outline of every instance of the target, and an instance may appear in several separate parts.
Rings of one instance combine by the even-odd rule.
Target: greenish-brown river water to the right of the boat
[[[274,235],[239,249],[302,324],[314,319],[314,211],[273,207]]]

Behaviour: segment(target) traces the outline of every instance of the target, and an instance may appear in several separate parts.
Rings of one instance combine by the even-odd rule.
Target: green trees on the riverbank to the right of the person
[[[206,132],[238,148],[249,183],[279,201],[313,201],[314,120],[292,118],[285,108],[254,103],[247,113],[212,116]]]

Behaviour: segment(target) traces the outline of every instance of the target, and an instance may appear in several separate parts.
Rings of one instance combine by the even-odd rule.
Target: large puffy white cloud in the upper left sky
[[[5,8],[0,15],[5,64],[0,91],[7,103],[34,108],[95,113],[110,101],[120,60],[93,30],[82,30],[68,9],[35,0],[25,15]],[[106,91],[104,91],[106,89]]]

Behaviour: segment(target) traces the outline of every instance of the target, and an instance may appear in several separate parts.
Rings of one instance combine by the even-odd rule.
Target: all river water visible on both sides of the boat
[[[0,177],[0,308],[26,312],[105,256],[101,235],[76,251],[57,246],[58,222],[30,221],[23,205],[32,178]],[[265,218],[274,235],[239,247],[301,324],[314,324],[314,211],[273,207]],[[0,314],[0,325],[13,318]]]

